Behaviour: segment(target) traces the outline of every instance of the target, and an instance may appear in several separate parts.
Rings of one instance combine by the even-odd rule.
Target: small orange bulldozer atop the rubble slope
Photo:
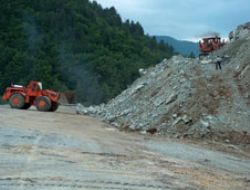
[[[224,43],[221,41],[220,37],[215,36],[202,38],[202,41],[199,41],[200,56],[208,55],[209,53],[219,49],[223,45]]]

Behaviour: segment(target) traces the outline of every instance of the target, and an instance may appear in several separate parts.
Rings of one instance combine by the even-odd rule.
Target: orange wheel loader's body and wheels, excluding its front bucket
[[[11,85],[6,88],[2,99],[9,101],[11,108],[29,109],[34,105],[39,111],[56,111],[60,94],[43,90],[41,82],[31,81],[27,87]]]

